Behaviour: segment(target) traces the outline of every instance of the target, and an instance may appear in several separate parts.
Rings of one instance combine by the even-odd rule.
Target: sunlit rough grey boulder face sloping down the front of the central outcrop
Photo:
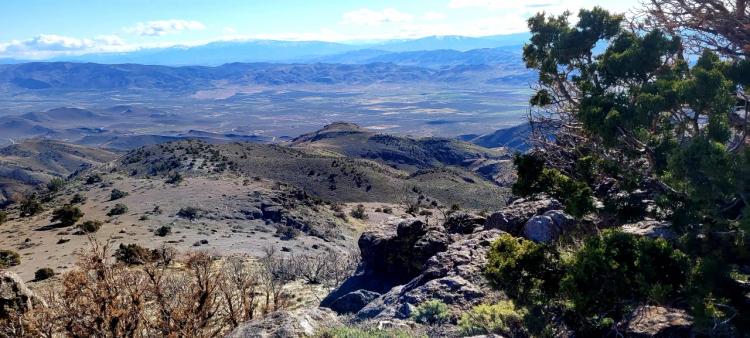
[[[361,319],[408,318],[421,303],[438,299],[454,313],[481,302],[499,299],[482,276],[490,244],[502,232],[481,231],[456,241],[434,256],[423,272],[404,285],[392,288],[357,313]]]

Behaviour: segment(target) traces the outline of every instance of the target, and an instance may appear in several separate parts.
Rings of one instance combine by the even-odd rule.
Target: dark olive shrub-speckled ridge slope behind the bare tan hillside
[[[257,177],[337,202],[402,203],[422,195],[440,204],[482,209],[504,205],[506,194],[505,189],[459,167],[402,170],[356,156],[272,144],[172,142],[133,150],[117,168],[136,177],[166,177],[175,172],[188,177],[210,173]],[[487,198],[471,198],[476,194]]]

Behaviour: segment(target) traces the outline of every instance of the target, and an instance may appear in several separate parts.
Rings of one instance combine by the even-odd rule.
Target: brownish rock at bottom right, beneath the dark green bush
[[[690,337],[693,318],[685,310],[643,305],[622,326],[626,337]]]

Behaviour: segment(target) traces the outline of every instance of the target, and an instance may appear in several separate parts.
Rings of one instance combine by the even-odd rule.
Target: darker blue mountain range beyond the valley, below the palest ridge
[[[505,79],[528,83],[532,76],[518,53],[481,49],[388,53],[351,58],[348,63],[231,63],[217,67],[32,62],[0,65],[0,88],[192,91],[211,88],[217,81],[238,85],[501,83]]]

